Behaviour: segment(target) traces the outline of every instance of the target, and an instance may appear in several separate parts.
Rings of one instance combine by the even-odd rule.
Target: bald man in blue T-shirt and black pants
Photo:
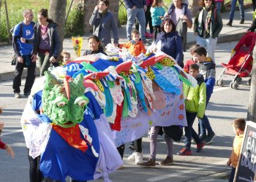
[[[21,39],[33,39],[34,36],[34,22],[32,21],[34,14],[31,9],[26,9],[23,11],[23,22],[15,25],[12,34],[12,46],[17,58],[17,63],[15,65],[15,74],[12,83],[13,92],[15,98],[21,98],[20,95],[20,84],[21,75],[23,73],[23,68],[28,68],[26,82],[24,87],[24,95],[29,96],[31,92],[31,87],[34,84],[35,79],[35,69],[36,60],[31,59],[31,52],[33,50],[33,44],[23,43]]]

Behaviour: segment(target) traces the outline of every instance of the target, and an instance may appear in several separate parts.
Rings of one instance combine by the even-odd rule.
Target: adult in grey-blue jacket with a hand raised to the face
[[[108,10],[110,2],[108,0],[99,0],[98,5],[89,20],[90,25],[94,26],[94,35],[99,37],[102,46],[111,44],[110,31],[113,31],[114,44],[118,46],[118,28],[115,17]]]

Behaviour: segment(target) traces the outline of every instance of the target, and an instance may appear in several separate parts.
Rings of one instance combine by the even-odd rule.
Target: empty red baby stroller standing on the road
[[[224,69],[216,81],[218,86],[223,87],[225,85],[223,80],[224,74],[235,76],[232,82],[230,82],[230,87],[236,90],[238,90],[242,78],[251,76],[252,51],[253,47],[255,47],[255,40],[256,33],[249,32],[238,41],[238,44],[233,49],[234,54],[230,58],[230,61],[227,64],[222,63]],[[251,78],[248,80],[248,85],[251,85]]]

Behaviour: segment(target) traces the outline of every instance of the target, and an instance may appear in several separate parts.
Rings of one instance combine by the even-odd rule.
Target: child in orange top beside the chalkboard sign
[[[244,128],[245,128],[245,120],[244,119],[235,119],[232,122],[233,125],[233,131],[236,134],[236,137],[233,142],[233,149],[230,155],[230,158],[227,161],[228,166],[232,166],[231,173],[230,173],[230,178],[229,181],[234,180],[234,176],[236,173],[236,166],[238,165],[238,157],[240,154],[240,149],[241,149],[241,144],[243,142],[244,138]]]

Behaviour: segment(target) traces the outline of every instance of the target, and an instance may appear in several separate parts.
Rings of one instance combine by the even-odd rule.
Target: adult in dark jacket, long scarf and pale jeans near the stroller
[[[204,0],[202,5],[195,15],[194,33],[197,44],[206,47],[208,57],[215,61],[214,52],[219,33],[222,31],[222,17],[214,9],[211,0]]]

